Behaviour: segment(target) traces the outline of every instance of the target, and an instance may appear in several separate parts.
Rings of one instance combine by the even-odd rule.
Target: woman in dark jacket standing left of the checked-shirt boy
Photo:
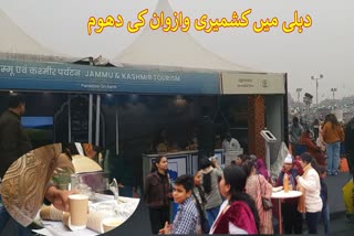
[[[145,180],[144,200],[148,206],[152,232],[158,234],[165,222],[169,222],[171,187],[166,157],[160,155],[155,159],[152,171]]]

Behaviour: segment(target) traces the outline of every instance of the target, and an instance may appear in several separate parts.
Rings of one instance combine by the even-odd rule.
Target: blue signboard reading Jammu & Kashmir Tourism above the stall
[[[218,73],[0,60],[0,89],[220,94]]]

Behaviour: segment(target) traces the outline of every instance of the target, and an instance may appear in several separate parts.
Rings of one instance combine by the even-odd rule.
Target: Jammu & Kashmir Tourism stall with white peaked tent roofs
[[[168,1],[159,1],[156,11],[173,12]],[[0,17],[13,24],[3,12]],[[15,34],[9,32],[7,39],[25,35],[21,29],[12,29]],[[183,129],[187,133],[186,127],[196,125],[204,105],[211,107],[212,118],[221,120],[220,130],[229,129],[242,141],[244,152],[264,154],[260,137],[264,127],[279,142],[288,139],[287,74],[259,72],[223,60],[188,33],[145,29],[110,61],[114,65],[110,67],[95,66],[100,64],[95,60],[90,60],[91,65],[74,64],[86,58],[62,57],[29,36],[21,39],[24,42],[18,42],[22,46],[14,53],[0,47],[0,96],[23,92],[31,100],[25,116],[49,120],[50,141],[110,148],[111,153],[128,157],[131,165],[138,167],[134,175],[142,180],[156,154],[148,152],[153,133],[166,126],[171,137]],[[10,40],[12,43],[17,42]],[[188,106],[180,106],[178,99]],[[187,135],[178,139],[184,141]],[[170,171],[192,174],[195,151],[179,146],[167,153]],[[222,150],[217,150],[223,164]],[[271,150],[271,157],[275,158],[275,151]]]

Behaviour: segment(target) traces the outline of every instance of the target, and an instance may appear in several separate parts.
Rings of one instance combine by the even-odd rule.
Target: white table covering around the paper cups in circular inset
[[[128,219],[139,204],[139,199],[119,196],[114,200],[113,195],[97,194],[94,202],[88,203],[90,213],[104,211],[107,216],[117,216],[123,223]],[[90,228],[72,232],[62,222],[41,221],[44,228],[33,229],[37,234],[45,236],[94,236],[103,232],[95,232]],[[123,224],[122,223],[122,224]]]

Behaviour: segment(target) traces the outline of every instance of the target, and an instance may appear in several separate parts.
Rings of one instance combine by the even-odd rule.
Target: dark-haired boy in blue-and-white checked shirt
[[[174,201],[178,203],[178,212],[174,224],[165,223],[159,234],[197,234],[199,213],[192,196],[194,179],[180,175],[175,180]]]

